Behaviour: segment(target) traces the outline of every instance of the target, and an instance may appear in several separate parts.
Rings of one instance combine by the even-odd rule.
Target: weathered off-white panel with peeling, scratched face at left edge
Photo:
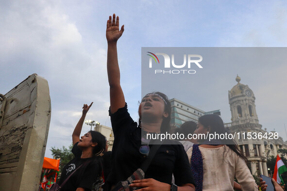
[[[0,191],[37,191],[51,119],[48,82],[33,74],[4,96],[0,100]]]

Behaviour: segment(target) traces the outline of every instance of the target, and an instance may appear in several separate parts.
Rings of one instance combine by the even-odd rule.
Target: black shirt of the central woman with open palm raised
[[[142,145],[141,128],[131,118],[127,104],[113,114],[109,111],[109,114],[115,139],[112,150],[112,171],[107,182],[116,184],[118,181],[126,180],[140,168],[146,156],[139,152],[139,147]],[[145,178],[171,184],[173,173],[176,185],[187,183],[195,185],[183,145],[171,143],[174,141],[165,140],[157,150],[145,173]]]

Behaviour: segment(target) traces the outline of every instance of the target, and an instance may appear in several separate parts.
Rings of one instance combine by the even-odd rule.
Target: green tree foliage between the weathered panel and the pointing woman
[[[51,152],[52,152],[52,156],[55,159],[60,159],[60,166],[59,166],[59,175],[61,175],[62,170],[64,168],[64,166],[71,160],[74,158],[74,155],[72,154],[71,150],[73,148],[73,143],[71,143],[69,145],[68,148],[66,148],[65,146],[63,146],[62,148],[55,148],[55,147],[51,147]],[[60,178],[60,176],[57,177],[57,179]]]

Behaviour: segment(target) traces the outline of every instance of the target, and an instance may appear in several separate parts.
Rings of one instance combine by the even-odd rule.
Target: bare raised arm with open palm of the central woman
[[[111,112],[118,111],[125,106],[125,98],[120,86],[120,73],[118,67],[117,41],[124,31],[124,25],[119,31],[119,19],[116,15],[109,17],[107,21],[106,38],[108,42],[107,71],[110,85]]]

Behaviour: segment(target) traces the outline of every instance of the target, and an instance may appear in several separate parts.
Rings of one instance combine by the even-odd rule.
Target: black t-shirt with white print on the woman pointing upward
[[[78,142],[79,143],[79,142]],[[78,147],[78,143],[74,144],[72,153],[75,158],[70,160],[68,164],[63,168],[59,185],[81,164],[85,161],[90,160],[80,167],[62,187],[61,191],[76,191],[77,188],[84,188],[86,191],[91,191],[93,183],[96,182],[100,172],[99,159],[86,158],[81,159],[82,151]]]

